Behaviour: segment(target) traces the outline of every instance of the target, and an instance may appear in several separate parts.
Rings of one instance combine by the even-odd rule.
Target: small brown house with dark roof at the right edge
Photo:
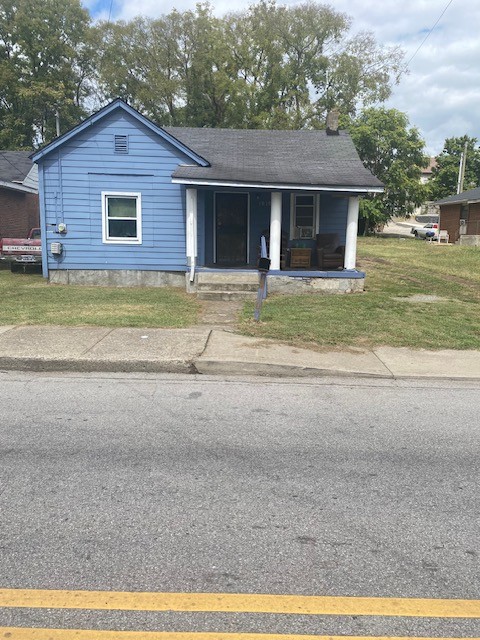
[[[450,242],[480,245],[480,187],[437,200],[440,228],[446,229]]]

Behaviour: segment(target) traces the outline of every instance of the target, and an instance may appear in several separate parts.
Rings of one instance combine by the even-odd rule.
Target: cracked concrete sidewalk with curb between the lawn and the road
[[[480,380],[480,352],[308,350],[201,326],[1,326],[0,369]]]

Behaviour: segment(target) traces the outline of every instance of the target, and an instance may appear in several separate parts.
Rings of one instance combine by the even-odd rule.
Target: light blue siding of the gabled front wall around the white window
[[[114,136],[128,136],[128,154],[114,153]],[[123,110],[81,131],[39,163],[43,168],[49,269],[183,271],[185,189],[172,184],[192,160]],[[142,243],[102,241],[102,191],[141,193]],[[64,222],[67,233],[55,233]],[[50,243],[60,241],[60,258]],[[199,247],[200,248],[200,247]]]

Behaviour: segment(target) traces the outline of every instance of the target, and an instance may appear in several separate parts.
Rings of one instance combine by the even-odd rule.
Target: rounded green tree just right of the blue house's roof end
[[[428,158],[418,130],[409,127],[404,113],[374,107],[350,119],[348,126],[364,165],[385,185],[383,194],[361,202],[365,231],[374,230],[393,216],[411,214],[426,199],[420,175]]]

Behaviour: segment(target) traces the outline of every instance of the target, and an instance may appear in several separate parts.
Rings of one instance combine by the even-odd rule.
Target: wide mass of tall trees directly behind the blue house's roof
[[[371,34],[351,37],[331,7],[260,0],[217,18],[208,3],[158,20],[103,24],[100,87],[160,124],[208,127],[323,127],[336,104],[388,97],[402,63]]]

